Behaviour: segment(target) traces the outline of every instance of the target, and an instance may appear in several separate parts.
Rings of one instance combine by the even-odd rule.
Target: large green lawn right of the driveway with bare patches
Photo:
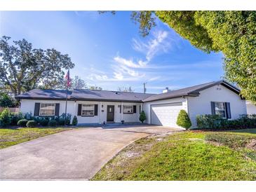
[[[255,180],[256,134],[249,132],[143,138],[123,149],[93,180]]]

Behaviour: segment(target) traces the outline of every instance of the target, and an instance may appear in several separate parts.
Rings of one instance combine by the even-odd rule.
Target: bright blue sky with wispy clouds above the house
[[[9,11],[0,13],[0,34],[27,39],[34,48],[69,54],[88,85],[105,90],[131,86],[158,93],[222,78],[222,53],[203,53],[163,22],[147,37],[130,20],[129,11]]]

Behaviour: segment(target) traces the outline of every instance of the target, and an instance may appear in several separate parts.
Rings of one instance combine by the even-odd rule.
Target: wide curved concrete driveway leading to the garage
[[[163,127],[79,128],[0,150],[0,179],[90,179],[123,147]]]

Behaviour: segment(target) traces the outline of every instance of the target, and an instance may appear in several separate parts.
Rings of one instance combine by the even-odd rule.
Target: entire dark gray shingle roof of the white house
[[[112,90],[73,90],[68,92],[68,100],[90,100],[90,101],[112,101],[112,102],[150,102],[156,100],[166,100],[183,96],[198,96],[201,90],[210,88],[213,85],[222,84],[230,90],[240,93],[240,90],[234,85],[225,81],[213,81],[203,83],[189,88],[172,90],[161,94],[149,94],[141,92],[119,92]],[[66,90],[29,90],[16,97],[17,99],[34,100],[65,100]]]

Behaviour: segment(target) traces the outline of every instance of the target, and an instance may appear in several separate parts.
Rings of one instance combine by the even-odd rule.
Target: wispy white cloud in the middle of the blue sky
[[[144,40],[144,39],[143,39]],[[142,41],[142,39],[133,39],[133,49],[144,54],[143,58],[135,60],[133,57],[125,58],[119,56],[119,53],[113,57],[114,63],[111,65],[112,71],[108,74],[105,71],[97,69],[90,69],[91,81],[156,81],[161,76],[155,76],[151,71],[145,69],[159,69],[159,66],[149,64],[153,57],[160,53],[166,53],[171,46],[172,39],[170,39],[167,31],[159,30],[153,32],[150,39]]]

